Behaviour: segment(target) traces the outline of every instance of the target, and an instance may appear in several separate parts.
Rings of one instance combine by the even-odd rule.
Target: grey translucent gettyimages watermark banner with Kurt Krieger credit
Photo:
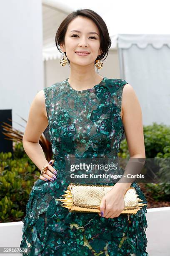
[[[165,165],[166,163],[166,165]],[[70,159],[67,161],[65,178],[69,183],[112,184],[121,183],[170,183],[167,179],[170,159]],[[168,171],[168,172],[169,172]],[[170,173],[170,172],[169,172]]]

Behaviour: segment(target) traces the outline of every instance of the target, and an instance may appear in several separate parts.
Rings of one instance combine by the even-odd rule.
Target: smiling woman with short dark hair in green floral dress
[[[23,146],[41,171],[46,164],[48,169],[30,193],[23,255],[148,255],[146,206],[136,215],[121,214],[130,186],[147,203],[135,182],[114,183],[102,198],[99,214],[68,212],[55,201],[67,190],[66,165],[71,159],[115,159],[124,128],[130,157],[145,159],[142,113],[133,87],[95,72],[111,46],[102,18],[89,9],[70,13],[55,42],[66,56],[60,64],[70,64],[70,77],[38,92],[30,108]],[[47,125],[54,156],[50,163],[39,144]]]

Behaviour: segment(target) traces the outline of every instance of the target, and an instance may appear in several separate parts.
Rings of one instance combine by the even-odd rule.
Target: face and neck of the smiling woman
[[[72,28],[80,28],[81,30],[75,30]],[[90,32],[89,32],[90,31]],[[75,34],[76,32],[76,34]],[[77,16],[75,19],[73,19],[67,27],[67,31],[65,33],[64,42],[60,43],[60,49],[65,52],[65,55],[67,56],[67,60],[69,61],[69,64],[72,66],[72,68],[75,67],[77,70],[77,73],[74,74],[71,72],[70,74],[70,82],[76,79],[79,79],[79,81],[75,81],[75,84],[77,83],[83,83],[82,79],[82,69],[85,70],[85,66],[87,71],[89,71],[89,80],[90,77],[96,76],[95,70],[94,70],[94,59],[96,59],[96,56],[101,55],[100,50],[100,32],[95,23],[82,16]],[[93,35],[93,36],[92,36]],[[95,36],[94,36],[95,35]],[[66,49],[67,46],[67,49]],[[66,54],[67,51],[67,54]],[[88,56],[86,58],[75,58],[74,55],[77,56]],[[92,66],[93,65],[93,66]],[[91,69],[91,70],[90,70]],[[91,74],[90,74],[91,72]],[[84,76],[83,76],[84,77]],[[84,77],[85,79],[85,77]],[[88,79],[88,76],[86,77]],[[86,80],[87,83],[87,80]]]

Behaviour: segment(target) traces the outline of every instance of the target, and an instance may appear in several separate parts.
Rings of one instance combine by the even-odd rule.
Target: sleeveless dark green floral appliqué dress
[[[103,77],[93,88],[77,91],[67,78],[43,89],[57,179],[38,179],[32,187],[23,218],[20,248],[28,249],[23,255],[148,255],[146,205],[135,215],[103,218],[98,213],[69,212],[55,201],[67,190],[65,168],[71,157],[117,157],[124,133],[120,110],[125,84]],[[147,204],[139,185],[133,182],[131,187]]]

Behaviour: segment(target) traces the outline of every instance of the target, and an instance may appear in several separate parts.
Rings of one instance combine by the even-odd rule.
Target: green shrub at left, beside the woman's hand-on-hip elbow
[[[22,143],[16,144],[15,149],[15,156],[23,154]],[[40,170],[26,154],[12,159],[10,152],[0,153],[0,222],[21,220],[32,186],[39,176]]]

